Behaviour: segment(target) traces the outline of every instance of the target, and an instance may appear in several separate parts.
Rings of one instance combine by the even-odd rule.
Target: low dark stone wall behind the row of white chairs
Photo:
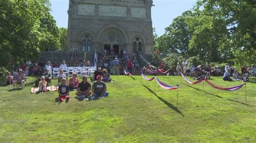
[[[73,57],[73,63],[75,63],[76,53],[71,52]],[[86,53],[86,60],[93,62],[94,61],[94,53]],[[43,60],[44,63],[47,61],[51,61],[51,63],[57,61],[58,65],[62,63],[63,60],[68,63],[70,61],[70,52],[53,52],[53,51],[44,51],[39,54],[38,61]],[[78,52],[78,62],[82,62],[84,60],[84,52]]]

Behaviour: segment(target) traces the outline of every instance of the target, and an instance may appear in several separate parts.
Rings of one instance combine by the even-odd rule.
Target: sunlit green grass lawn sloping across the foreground
[[[152,76],[147,76],[152,77]],[[112,76],[109,97],[69,103],[55,102],[57,91],[30,94],[36,77],[25,89],[0,87],[0,142],[255,142],[256,78],[238,91],[223,91],[207,83],[189,85],[178,76],[158,76],[177,90],[164,90],[140,76]],[[212,83],[231,87],[241,82]],[[82,81],[82,79],[79,79]],[[3,82],[3,81],[1,81]],[[56,84],[57,81],[52,81]]]

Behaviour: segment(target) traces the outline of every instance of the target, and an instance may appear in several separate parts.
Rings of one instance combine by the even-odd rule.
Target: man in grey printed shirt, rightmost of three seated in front
[[[109,92],[106,91],[106,84],[102,82],[102,76],[98,75],[96,77],[97,82],[92,84],[92,97],[87,97],[87,100],[104,98],[109,95]]]

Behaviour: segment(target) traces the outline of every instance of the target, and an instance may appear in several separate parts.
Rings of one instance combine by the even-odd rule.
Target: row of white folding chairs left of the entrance
[[[63,69],[63,73],[68,77],[76,73],[78,76],[92,77],[93,73],[96,71],[96,67],[68,67]],[[59,68],[52,69],[52,78],[57,77],[59,74]]]

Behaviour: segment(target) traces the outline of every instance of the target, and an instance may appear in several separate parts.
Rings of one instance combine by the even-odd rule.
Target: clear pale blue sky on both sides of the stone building
[[[190,10],[197,0],[154,0],[152,6],[153,27],[156,27],[158,35],[165,32],[165,27],[172,23],[173,18],[180,16],[186,10]],[[58,27],[68,27],[69,0],[50,0],[52,4],[51,14],[55,18]]]

